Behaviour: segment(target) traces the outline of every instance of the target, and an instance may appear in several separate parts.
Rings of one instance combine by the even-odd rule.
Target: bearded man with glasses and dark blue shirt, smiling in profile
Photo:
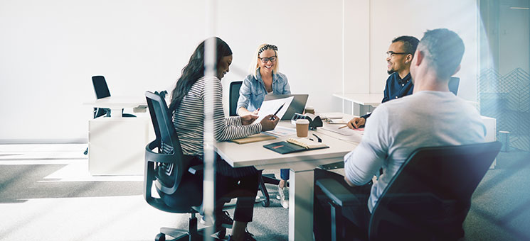
[[[387,71],[390,76],[386,79],[383,96],[384,103],[392,99],[398,99],[412,94],[413,83],[410,81],[410,62],[420,40],[413,36],[400,36],[392,40],[392,44],[386,52]],[[356,117],[348,122],[351,129],[362,127],[371,113]]]

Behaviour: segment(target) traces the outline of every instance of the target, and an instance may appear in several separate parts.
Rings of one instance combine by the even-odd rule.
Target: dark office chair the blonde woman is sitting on
[[[229,95],[229,107],[228,111],[230,116],[238,116],[238,99],[239,99],[239,89],[241,88],[242,81],[230,82],[230,95]],[[260,179],[260,191],[264,196],[264,200],[261,201],[261,205],[264,207],[270,206],[270,196],[267,191],[265,184],[280,184],[280,180],[275,178],[274,174],[264,174]],[[288,186],[288,185],[287,185]]]

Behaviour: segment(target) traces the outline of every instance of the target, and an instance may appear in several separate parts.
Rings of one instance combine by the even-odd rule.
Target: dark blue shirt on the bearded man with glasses
[[[383,101],[381,101],[381,103],[408,96],[409,94],[412,94],[413,89],[414,85],[412,84],[410,73],[408,73],[405,78],[401,79],[398,72],[393,72],[388,79],[386,79]],[[369,118],[370,115],[371,113],[368,113],[361,117],[366,119]]]

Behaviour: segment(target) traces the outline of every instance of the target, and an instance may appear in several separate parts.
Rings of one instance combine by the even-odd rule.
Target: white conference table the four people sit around
[[[295,128],[289,121],[282,121],[279,125]],[[218,154],[233,167],[290,169],[289,240],[313,240],[314,169],[322,164],[340,162],[344,155],[354,150],[358,144],[352,140],[341,140],[348,138],[322,128],[317,131],[310,130],[309,136],[312,136],[312,133],[322,138],[322,142],[329,148],[281,155],[263,147],[296,135],[242,145],[235,142],[216,143]]]

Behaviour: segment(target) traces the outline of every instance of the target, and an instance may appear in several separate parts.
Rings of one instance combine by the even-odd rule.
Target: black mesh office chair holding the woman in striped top
[[[147,106],[151,114],[157,139],[145,148],[144,198],[149,205],[169,213],[190,213],[188,230],[161,228],[155,240],[164,241],[166,235],[175,240],[202,240],[206,229],[197,229],[196,213],[203,201],[202,165],[191,166],[191,159],[182,154],[164,98],[158,93],[146,91]],[[156,187],[159,198],[152,196]],[[219,238],[224,238],[226,228],[216,227]]]

